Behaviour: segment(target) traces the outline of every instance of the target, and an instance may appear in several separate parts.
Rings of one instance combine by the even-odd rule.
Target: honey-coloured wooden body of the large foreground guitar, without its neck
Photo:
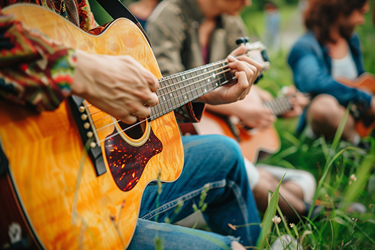
[[[133,56],[161,77],[146,38],[128,19],[117,19],[100,35],[88,35],[40,6],[13,5],[2,12],[15,15],[27,26],[69,47],[88,53]],[[121,133],[116,135],[121,143],[112,147],[124,156],[131,157],[128,147],[138,150],[147,143],[146,153],[153,149],[158,152],[151,153],[136,184],[123,191],[111,174],[115,163],[108,162],[105,141],[101,141],[101,151],[107,172],[97,176],[66,101],[53,112],[33,113],[8,101],[1,101],[0,107],[0,140],[8,159],[8,174],[1,177],[1,183],[10,190],[8,194],[0,192],[0,203],[6,206],[14,199],[18,217],[23,220],[14,221],[9,214],[0,216],[2,247],[10,244],[8,228],[15,222],[24,224],[22,228],[27,228],[36,242],[32,246],[42,249],[126,249],[135,230],[144,188],[158,178],[159,172],[160,180],[165,182],[175,181],[181,174],[183,147],[173,113],[147,125],[156,139],[147,134],[124,142]],[[90,111],[100,110],[92,107]],[[111,117],[103,112],[94,116],[100,119],[95,126],[107,125],[98,131],[100,139],[114,133]]]

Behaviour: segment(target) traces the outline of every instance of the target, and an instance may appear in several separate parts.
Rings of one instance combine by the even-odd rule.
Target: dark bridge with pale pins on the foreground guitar
[[[107,172],[106,165],[103,160],[103,153],[101,152],[100,142],[97,133],[92,129],[93,123],[88,113],[88,108],[85,106],[85,99],[81,97],[69,97],[68,103],[70,110],[76,122],[79,134],[83,145],[88,146],[88,156],[92,160],[97,176]]]

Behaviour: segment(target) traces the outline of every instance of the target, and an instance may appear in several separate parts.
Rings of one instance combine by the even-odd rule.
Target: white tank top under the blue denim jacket
[[[347,78],[355,80],[358,77],[356,63],[354,63],[351,53],[342,59],[332,59],[332,77],[334,79]]]

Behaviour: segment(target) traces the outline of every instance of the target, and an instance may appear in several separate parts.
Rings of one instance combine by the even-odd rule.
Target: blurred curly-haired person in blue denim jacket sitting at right
[[[301,117],[298,131],[333,139],[351,104],[342,139],[353,144],[374,128],[374,77],[366,90],[361,87],[365,68],[360,40],[355,28],[365,24],[369,1],[309,1],[304,13],[304,34],[292,47],[288,63],[297,89],[310,93],[313,100]],[[355,83],[354,81],[357,81]],[[367,81],[367,80],[366,80]],[[352,84],[349,84],[352,82]],[[359,131],[358,124],[368,128]]]

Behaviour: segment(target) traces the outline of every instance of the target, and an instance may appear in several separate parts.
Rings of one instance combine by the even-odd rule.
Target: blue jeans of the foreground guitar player
[[[260,217],[238,143],[221,135],[190,135],[183,137],[183,148],[185,163],[180,178],[163,184],[159,196],[158,185],[144,190],[140,219],[128,249],[156,249],[156,238],[166,250],[230,249],[233,240],[245,247],[255,245]],[[202,190],[208,190],[203,217],[213,233],[173,225],[194,213],[192,206],[199,206]],[[181,210],[176,213],[178,204]],[[166,218],[171,224],[160,223]],[[228,224],[256,225],[233,230]]]

